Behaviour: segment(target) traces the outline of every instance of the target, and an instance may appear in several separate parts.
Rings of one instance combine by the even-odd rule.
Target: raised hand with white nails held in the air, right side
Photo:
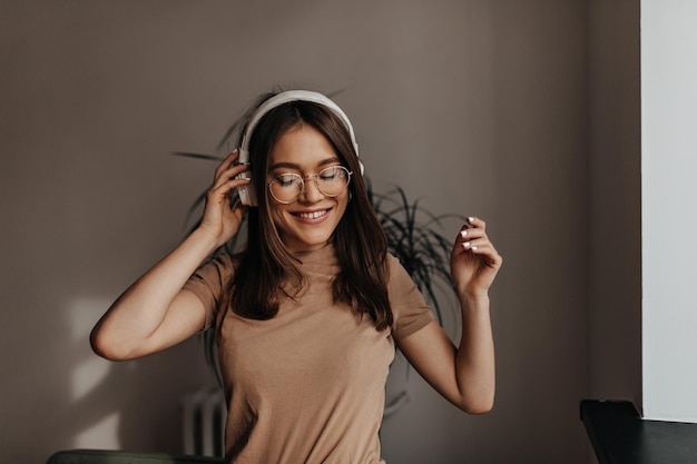
[[[487,236],[487,224],[475,217],[462,226],[450,255],[450,270],[458,294],[485,296],[503,258]]]

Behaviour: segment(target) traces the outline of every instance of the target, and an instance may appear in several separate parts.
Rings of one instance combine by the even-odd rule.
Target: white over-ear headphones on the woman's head
[[[355,149],[356,156],[357,156],[359,144],[356,142],[356,138],[353,132],[353,126],[351,125],[351,121],[348,120],[348,117],[346,116],[346,113],[338,107],[338,105],[336,105],[334,101],[330,100],[327,97],[318,92],[313,92],[308,90],[288,90],[288,91],[275,95],[274,97],[264,101],[256,109],[254,115],[252,115],[252,118],[249,119],[249,122],[247,124],[247,127],[244,134],[242,135],[242,144],[239,147],[239,159],[237,162],[239,162],[240,165],[249,164],[249,139],[252,138],[252,134],[254,134],[254,129],[256,128],[256,125],[264,117],[264,115],[266,115],[268,111],[271,111],[272,109],[283,103],[287,103],[288,101],[297,101],[297,100],[320,103],[331,109],[336,116],[338,116],[338,118],[346,126],[346,129],[348,129],[348,134],[351,135],[351,142],[353,144],[353,148]],[[361,164],[361,161],[359,161],[359,164],[361,165],[361,174],[363,174],[363,164]],[[249,171],[245,171],[245,172],[239,174],[237,178],[251,179],[252,174]],[[243,205],[257,206],[256,197],[254,195],[254,186],[252,186],[252,184],[238,187],[237,192],[239,194],[239,201]]]

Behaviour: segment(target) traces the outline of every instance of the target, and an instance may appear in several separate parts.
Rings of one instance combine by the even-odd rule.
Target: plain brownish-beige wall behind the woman
[[[3,460],[180,451],[179,401],[213,382],[197,342],[109,364],[87,335],[212,176],[168,152],[213,150],[279,83],[343,89],[375,188],[487,218],[505,257],[495,409],[459,413],[412,375],[387,462],[587,462],[587,3],[0,0]]]

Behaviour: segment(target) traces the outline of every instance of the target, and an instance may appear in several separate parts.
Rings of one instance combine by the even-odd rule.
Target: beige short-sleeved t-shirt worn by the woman
[[[391,329],[377,332],[347,305],[332,302],[334,247],[298,256],[308,287],[269,320],[220,312],[233,277],[229,256],[203,266],[186,285],[204,303],[207,326],[222,324],[218,354],[232,463],[384,463],[379,431],[394,339],[434,320],[397,259],[390,256]],[[219,319],[223,319],[222,322]]]

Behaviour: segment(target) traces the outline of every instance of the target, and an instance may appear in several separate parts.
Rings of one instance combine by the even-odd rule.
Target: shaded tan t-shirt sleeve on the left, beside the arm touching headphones
[[[220,254],[199,267],[184,285],[185,289],[193,292],[204,304],[206,309],[204,330],[213,325],[217,316],[223,304],[222,295],[233,278],[233,269],[230,256]]]

